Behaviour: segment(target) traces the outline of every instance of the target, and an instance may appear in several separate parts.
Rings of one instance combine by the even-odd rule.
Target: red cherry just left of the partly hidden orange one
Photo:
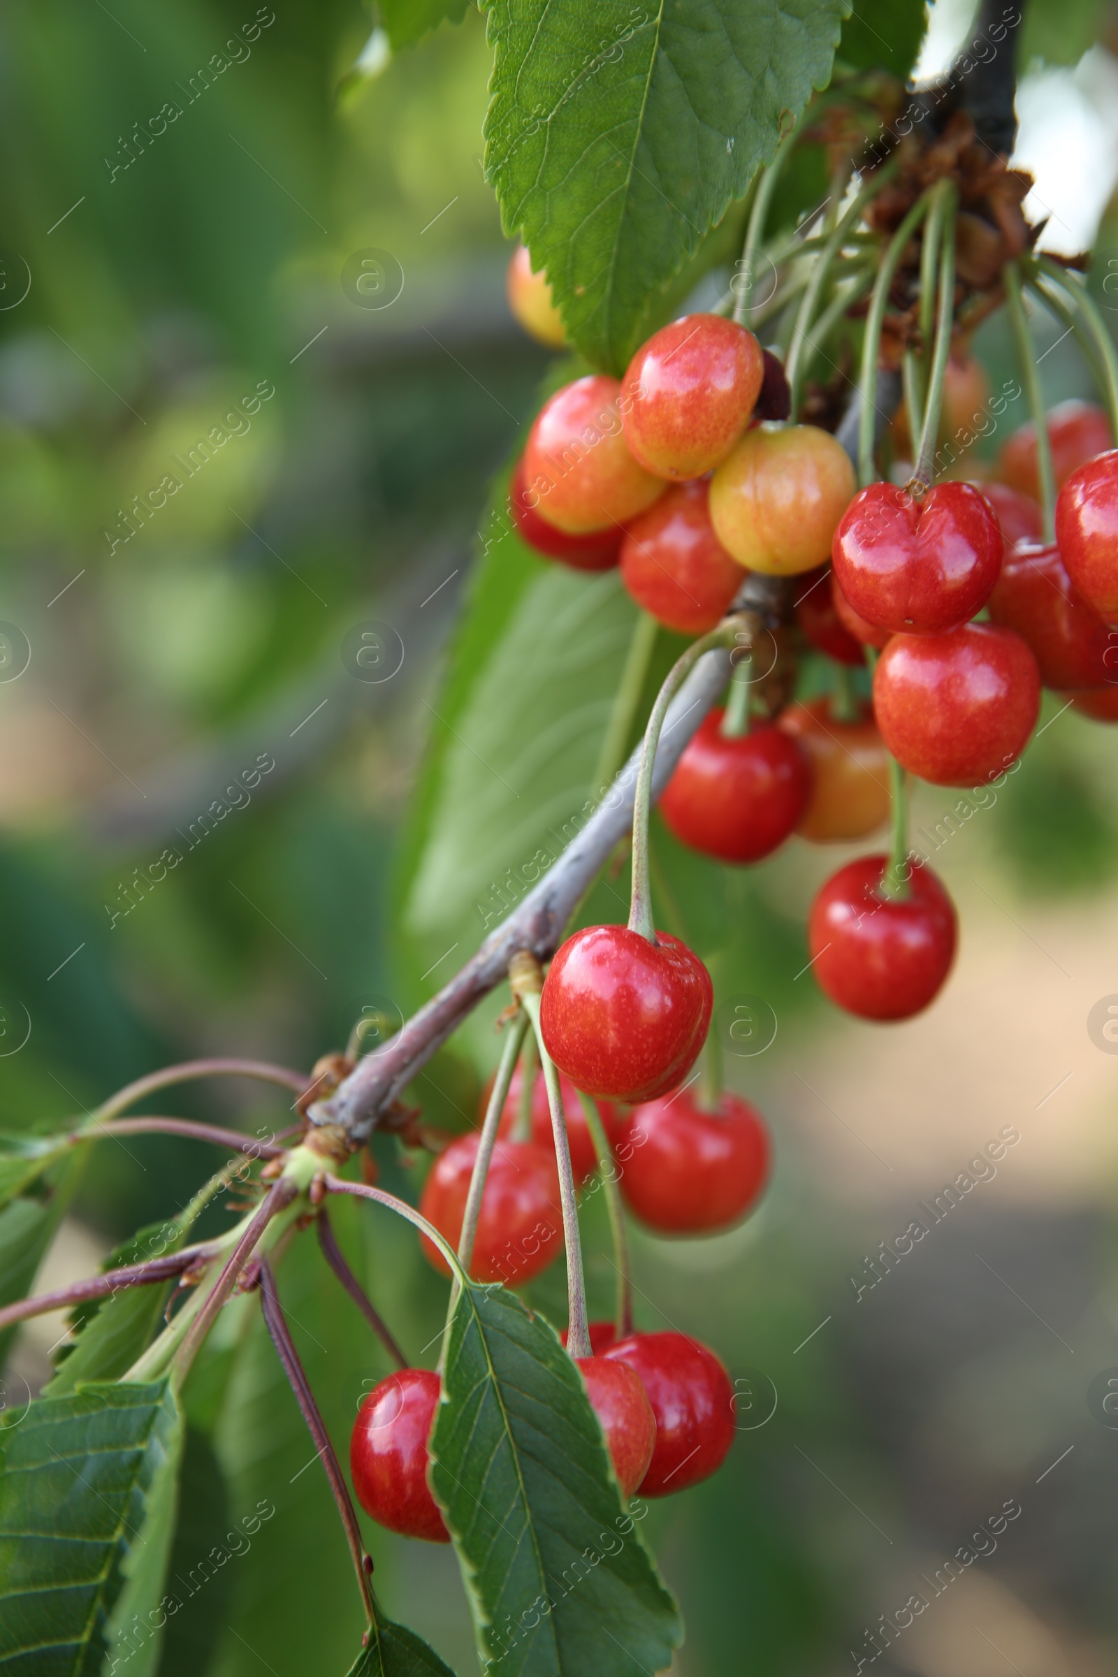
[[[709,711],[660,798],[684,844],[721,862],[759,862],[788,838],[811,797],[811,765],[773,723],[727,740],[726,713]]]

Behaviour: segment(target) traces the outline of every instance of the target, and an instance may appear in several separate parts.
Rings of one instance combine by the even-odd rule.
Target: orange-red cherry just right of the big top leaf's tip
[[[622,382],[625,441],[659,478],[699,478],[726,459],[763,379],[753,332],[694,314],[654,332]]]

